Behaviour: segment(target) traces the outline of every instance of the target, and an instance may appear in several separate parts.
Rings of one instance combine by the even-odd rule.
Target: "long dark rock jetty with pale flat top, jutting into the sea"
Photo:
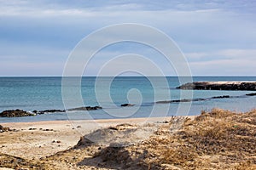
[[[256,91],[256,82],[188,82],[180,89],[195,90],[247,90]]]

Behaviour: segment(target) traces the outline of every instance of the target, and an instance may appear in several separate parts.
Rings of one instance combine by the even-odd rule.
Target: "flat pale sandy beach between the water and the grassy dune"
[[[193,116],[190,116],[193,117]],[[50,156],[77,144],[80,137],[96,129],[114,127],[118,124],[143,125],[165,122],[171,117],[102,119],[84,121],[10,122],[3,127],[15,129],[0,133],[0,152],[27,159]]]

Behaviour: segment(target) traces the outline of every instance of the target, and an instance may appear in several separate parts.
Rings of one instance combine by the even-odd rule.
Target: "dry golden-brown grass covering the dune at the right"
[[[160,126],[150,139],[120,150],[108,147],[95,157],[131,169],[138,165],[144,169],[254,169],[255,117],[255,110],[235,113],[213,109],[193,121],[183,120],[181,129],[171,133],[177,122],[172,117],[169,126]]]

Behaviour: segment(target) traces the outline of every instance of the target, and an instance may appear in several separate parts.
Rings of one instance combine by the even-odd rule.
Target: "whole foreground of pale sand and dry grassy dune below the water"
[[[0,167],[255,169],[256,110],[201,116],[2,123]]]

